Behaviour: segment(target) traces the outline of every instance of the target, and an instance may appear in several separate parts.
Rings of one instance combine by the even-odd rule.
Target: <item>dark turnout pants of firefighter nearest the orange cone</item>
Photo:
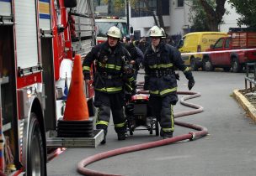
[[[94,106],[99,107],[96,128],[104,129],[104,134],[107,134],[111,111],[115,125],[115,132],[125,133],[126,123],[123,109],[124,105],[125,95],[123,92],[107,94],[95,91]]]

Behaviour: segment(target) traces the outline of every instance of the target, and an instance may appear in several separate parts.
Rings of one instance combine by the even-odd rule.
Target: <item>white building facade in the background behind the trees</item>
[[[150,0],[152,2],[152,10],[157,11],[157,0]],[[162,3],[163,13],[163,23],[165,26],[165,31],[168,35],[172,36],[183,36],[190,32],[191,23],[189,23],[190,15],[190,2],[184,0],[168,0],[168,3]],[[137,4],[139,6],[140,4]],[[229,3],[225,3],[225,8],[228,14],[223,16],[223,23],[219,26],[221,32],[228,32],[228,28],[237,28],[237,18],[239,15],[236,13],[235,9],[231,8]],[[134,28],[135,38],[142,36],[148,36],[148,30],[153,25],[156,25],[154,18],[142,10],[143,5],[140,7],[130,6],[130,25]],[[156,13],[155,13],[156,14]],[[157,15],[156,15],[157,18]],[[158,20],[158,18],[157,18]]]

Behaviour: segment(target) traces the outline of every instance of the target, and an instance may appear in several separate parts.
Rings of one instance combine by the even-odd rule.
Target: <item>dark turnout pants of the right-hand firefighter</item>
[[[157,117],[163,132],[174,131],[174,116],[173,116],[173,95],[168,96],[150,96],[149,106],[152,109],[153,116]],[[175,103],[174,103],[175,104]]]

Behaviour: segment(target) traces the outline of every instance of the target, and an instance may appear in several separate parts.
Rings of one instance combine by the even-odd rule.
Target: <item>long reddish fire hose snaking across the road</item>
[[[140,86],[141,85],[139,83],[137,87],[140,87]],[[139,90],[139,91],[137,91],[137,93],[148,94],[148,91]],[[200,93],[192,92],[192,91],[178,91],[177,93],[179,95],[189,95],[189,96],[182,97],[180,99],[180,103],[184,106],[192,107],[195,110],[181,111],[181,112],[178,112],[178,113],[174,113],[174,118],[177,118],[177,117],[180,117],[180,116],[188,116],[188,115],[200,113],[200,112],[203,111],[202,106],[185,102],[186,100],[189,100],[189,99],[200,96]],[[117,149],[110,150],[110,151],[107,151],[107,152],[104,152],[104,153],[95,154],[91,157],[85,158],[82,161],[80,161],[77,164],[77,172],[81,173],[83,175],[117,176],[117,175],[120,175],[120,174],[100,173],[98,171],[94,171],[94,170],[91,170],[91,169],[88,169],[88,168],[85,168],[85,167],[88,166],[88,164],[90,164],[90,163],[94,163],[94,162],[102,160],[104,158],[109,158],[109,157],[113,157],[113,156],[124,154],[124,153],[131,153],[131,152],[144,150],[144,149],[148,149],[148,148],[156,148],[156,147],[159,147],[159,146],[167,145],[167,144],[170,144],[170,143],[173,143],[173,142],[183,141],[183,140],[186,140],[186,139],[189,139],[191,141],[191,140],[195,140],[195,139],[200,138],[200,137],[204,137],[205,135],[208,134],[207,128],[202,127],[200,125],[190,124],[190,123],[186,123],[186,122],[178,122],[176,120],[175,120],[174,123],[178,126],[181,126],[181,127],[188,127],[188,128],[197,130],[197,132],[189,132],[188,134],[179,135],[177,137],[162,139],[162,140],[158,140],[158,141],[155,141],[155,142],[141,143],[141,144],[137,144],[137,145],[134,145],[134,146],[129,146],[129,147],[125,147],[125,148],[117,148]]]

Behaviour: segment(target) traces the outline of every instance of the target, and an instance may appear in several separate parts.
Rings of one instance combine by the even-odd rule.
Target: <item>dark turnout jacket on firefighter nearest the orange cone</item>
[[[93,47],[83,60],[84,79],[90,79],[90,65],[95,60],[94,91],[104,93],[117,93],[124,89],[132,91],[133,71],[129,62],[129,52],[118,42],[111,49],[108,42]]]

